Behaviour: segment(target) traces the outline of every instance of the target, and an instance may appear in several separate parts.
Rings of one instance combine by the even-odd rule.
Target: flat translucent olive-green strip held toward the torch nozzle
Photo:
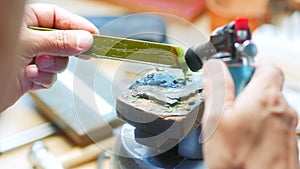
[[[30,27],[30,29],[55,30],[41,27]],[[93,37],[92,48],[82,53],[82,56],[179,68],[184,73],[188,70],[184,59],[185,49],[181,47],[104,35],[93,35]]]

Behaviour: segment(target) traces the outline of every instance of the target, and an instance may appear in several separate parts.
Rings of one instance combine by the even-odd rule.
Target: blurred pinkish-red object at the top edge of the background
[[[132,12],[161,12],[194,21],[202,14],[205,0],[102,0],[127,7]]]

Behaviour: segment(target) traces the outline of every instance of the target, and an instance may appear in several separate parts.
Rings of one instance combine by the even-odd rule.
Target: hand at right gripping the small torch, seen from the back
[[[210,169],[299,168],[298,117],[282,95],[283,73],[266,63],[254,67],[251,81],[235,98],[225,64],[205,65],[203,142]]]

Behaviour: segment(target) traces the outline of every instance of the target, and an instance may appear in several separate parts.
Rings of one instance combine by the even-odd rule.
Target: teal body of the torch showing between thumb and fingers
[[[252,66],[228,66],[229,72],[235,85],[235,95],[237,96],[248,84],[253,73]]]

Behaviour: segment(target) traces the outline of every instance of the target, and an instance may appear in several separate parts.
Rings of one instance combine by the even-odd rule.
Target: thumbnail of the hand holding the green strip
[[[77,48],[83,53],[89,50],[93,45],[93,36],[87,31],[78,31],[77,33]]]

